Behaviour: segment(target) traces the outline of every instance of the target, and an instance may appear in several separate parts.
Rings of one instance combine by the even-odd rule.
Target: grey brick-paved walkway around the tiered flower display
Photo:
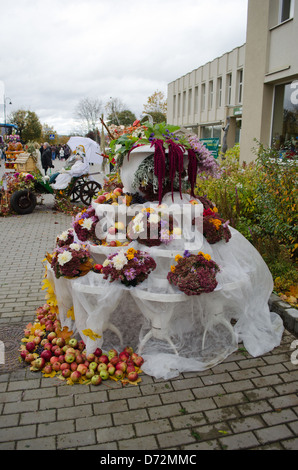
[[[46,196],[30,215],[0,218],[0,333],[9,332],[12,343],[14,328],[33,321],[44,303],[42,260],[71,224],[71,217],[52,211],[52,202]],[[15,344],[21,337],[16,334]],[[68,386],[17,361],[9,371],[0,365],[0,449],[118,455],[137,449],[297,450],[295,339],[285,331],[281,345],[262,357],[252,358],[240,345],[211,370],[167,381],[143,374],[138,386]]]

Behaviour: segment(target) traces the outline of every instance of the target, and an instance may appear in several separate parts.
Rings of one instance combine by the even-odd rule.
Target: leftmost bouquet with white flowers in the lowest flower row
[[[46,259],[57,279],[85,276],[93,267],[89,250],[78,243],[58,247],[53,254],[47,254]]]

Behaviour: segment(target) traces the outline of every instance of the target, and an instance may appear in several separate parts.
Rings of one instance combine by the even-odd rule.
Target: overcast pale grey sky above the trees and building
[[[169,82],[246,41],[247,0],[0,0],[0,6],[7,115],[30,109],[58,133],[76,127],[75,107],[87,97],[103,104],[119,98],[139,117],[156,90],[166,96]]]

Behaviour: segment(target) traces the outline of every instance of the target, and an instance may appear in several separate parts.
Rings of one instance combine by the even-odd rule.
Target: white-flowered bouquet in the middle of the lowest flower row
[[[110,277],[110,282],[119,280],[126,286],[136,286],[147,279],[156,263],[145,251],[129,248],[111,254],[102,266],[104,279]]]

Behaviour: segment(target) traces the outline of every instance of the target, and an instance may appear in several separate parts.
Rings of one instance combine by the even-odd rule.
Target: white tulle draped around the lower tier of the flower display
[[[178,196],[175,203],[189,201],[188,195],[182,200]],[[170,205],[171,195],[163,202]],[[94,207],[102,217],[104,205]],[[194,253],[208,253],[221,269],[216,290],[199,296],[187,296],[167,281],[174,256],[185,249],[183,238],[159,247],[131,243],[149,252],[157,263],[157,269],[136,287],[111,283],[93,271],[75,280],[57,280],[49,269],[62,325],[85,341],[88,353],[96,347],[108,351],[132,346],[145,359],[143,371],[163,379],[211,368],[237,350],[239,343],[254,357],[271,351],[283,333],[281,318],[268,306],[272,276],[248,240],[230,230],[228,243],[210,245],[200,237],[193,245]],[[118,248],[90,246],[90,250],[95,261],[102,263]],[[72,306],[75,321],[67,316]],[[101,337],[91,338],[85,330]]]

